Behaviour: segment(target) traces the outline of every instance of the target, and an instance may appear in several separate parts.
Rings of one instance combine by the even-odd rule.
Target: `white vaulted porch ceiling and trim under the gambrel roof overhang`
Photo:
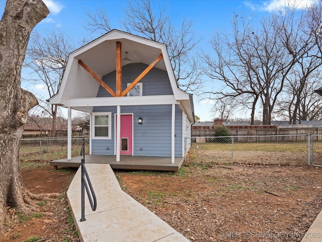
[[[68,98],[96,97],[100,84],[78,64],[81,60],[95,75],[102,79],[116,70],[116,43],[121,42],[122,59],[131,63],[150,65],[161,53],[155,68],[168,71],[171,85],[177,88],[167,48],[164,44],[113,30],[70,53],[58,93],[50,98],[51,104],[64,105]]]

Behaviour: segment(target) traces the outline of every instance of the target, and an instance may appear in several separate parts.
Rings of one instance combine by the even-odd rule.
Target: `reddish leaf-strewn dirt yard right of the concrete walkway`
[[[192,241],[300,241],[322,209],[320,168],[184,169],[173,176],[117,174],[123,190]]]

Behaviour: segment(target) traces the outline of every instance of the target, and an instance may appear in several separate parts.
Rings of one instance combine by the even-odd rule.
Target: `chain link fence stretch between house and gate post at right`
[[[218,164],[299,164],[310,162],[309,135],[191,137],[189,160]],[[189,144],[188,143],[188,144]],[[319,143],[322,146],[322,141]]]

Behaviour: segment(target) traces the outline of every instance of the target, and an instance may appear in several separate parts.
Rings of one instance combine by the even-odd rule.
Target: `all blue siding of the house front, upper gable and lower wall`
[[[142,63],[122,67],[122,90],[127,87],[127,83],[132,83],[146,67],[147,65]],[[102,80],[115,91],[115,71],[105,75]],[[153,68],[140,83],[142,83],[143,96],[173,95],[166,71]],[[100,86],[97,97],[111,97],[111,95]],[[102,103],[101,107],[94,107],[93,112],[112,112],[112,139],[93,139],[92,154],[114,155],[114,114],[116,107],[106,107]],[[121,113],[133,113],[134,155],[171,156],[172,105],[121,106]],[[142,125],[137,124],[139,117],[143,118]],[[178,106],[176,106],[175,133],[175,156],[182,157],[182,111]],[[109,147],[108,150],[107,147]]]

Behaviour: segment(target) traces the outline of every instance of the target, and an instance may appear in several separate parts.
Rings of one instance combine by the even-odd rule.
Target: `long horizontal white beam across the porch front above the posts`
[[[104,104],[103,104],[104,103]],[[179,104],[174,95],[155,95],[137,97],[90,97],[67,98],[63,106],[87,107],[87,106],[135,106],[135,105],[166,105]]]

